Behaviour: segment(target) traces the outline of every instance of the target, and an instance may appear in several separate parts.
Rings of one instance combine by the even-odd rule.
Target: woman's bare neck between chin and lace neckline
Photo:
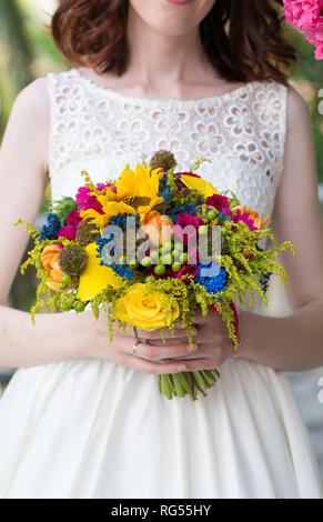
[[[199,27],[184,34],[168,36],[155,31],[131,8],[128,19],[130,63],[128,77],[142,90],[176,94],[181,86],[199,77],[216,78],[204,52]]]

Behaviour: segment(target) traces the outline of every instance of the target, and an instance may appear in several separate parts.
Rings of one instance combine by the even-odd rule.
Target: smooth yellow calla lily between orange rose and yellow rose
[[[88,247],[85,247],[85,251],[89,261],[85,270],[80,277],[78,299],[81,301],[89,301],[109,285],[115,290],[122,287],[122,278],[115,275],[113,270],[109,267],[102,267],[99,264],[100,258],[97,258],[97,243],[88,244]]]

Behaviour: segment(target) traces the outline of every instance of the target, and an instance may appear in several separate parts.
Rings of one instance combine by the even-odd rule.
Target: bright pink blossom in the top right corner
[[[323,59],[323,0],[284,0],[284,12],[286,22],[316,47],[315,58]]]

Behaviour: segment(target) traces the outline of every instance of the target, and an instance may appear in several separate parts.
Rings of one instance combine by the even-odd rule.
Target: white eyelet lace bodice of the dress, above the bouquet
[[[286,91],[250,82],[202,100],[151,100],[94,83],[78,69],[48,76],[51,104],[52,199],[74,195],[85,169],[93,181],[117,178],[124,165],[172,150],[178,171],[206,157],[199,173],[262,217],[273,210],[285,141]]]

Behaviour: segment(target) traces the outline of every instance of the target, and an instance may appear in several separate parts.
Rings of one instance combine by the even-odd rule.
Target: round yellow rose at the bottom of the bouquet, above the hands
[[[163,302],[169,299],[168,295],[161,292],[144,295],[144,288],[143,283],[135,283],[119,299],[117,319],[143,330],[170,327],[180,314],[178,303],[164,310]]]

